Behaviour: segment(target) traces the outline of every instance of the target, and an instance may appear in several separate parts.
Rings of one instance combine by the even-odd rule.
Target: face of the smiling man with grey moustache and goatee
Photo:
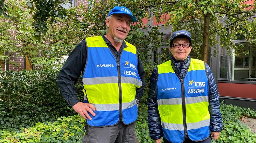
[[[131,18],[126,14],[113,14],[112,17],[106,19],[108,27],[107,33],[114,39],[125,40],[131,25]]]

